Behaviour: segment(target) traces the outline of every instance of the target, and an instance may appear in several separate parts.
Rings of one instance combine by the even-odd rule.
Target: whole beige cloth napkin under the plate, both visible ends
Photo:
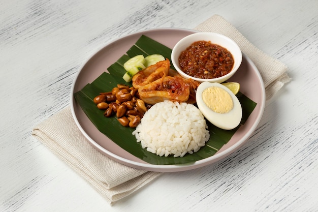
[[[268,98],[290,80],[282,63],[250,44],[220,16],[211,17],[195,29],[217,32],[234,39],[260,70]],[[77,128],[70,106],[44,120],[32,134],[86,179],[110,204],[132,194],[161,174],[124,166],[99,153]]]

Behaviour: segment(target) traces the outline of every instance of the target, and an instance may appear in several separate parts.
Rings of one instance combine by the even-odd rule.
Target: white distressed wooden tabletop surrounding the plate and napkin
[[[318,211],[318,2],[2,1],[1,211]],[[144,29],[194,28],[213,14],[289,67],[257,131],[210,166],[166,173],[110,206],[31,129],[70,103],[79,67]]]

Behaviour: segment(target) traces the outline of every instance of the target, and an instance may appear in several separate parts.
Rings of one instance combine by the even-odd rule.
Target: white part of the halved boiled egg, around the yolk
[[[208,88],[216,86],[219,88],[224,89],[232,98],[233,100],[233,108],[227,113],[217,113],[211,110],[203,101],[202,93],[203,91]],[[214,126],[224,129],[224,130],[232,130],[236,128],[242,119],[242,106],[237,97],[231,92],[229,88],[225,85],[220,83],[214,82],[202,82],[197,89],[196,93],[196,100],[198,108],[200,109],[201,113],[204,117]]]

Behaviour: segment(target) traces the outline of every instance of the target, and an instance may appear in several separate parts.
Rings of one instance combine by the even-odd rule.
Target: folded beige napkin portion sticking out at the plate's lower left
[[[44,120],[32,134],[109,203],[128,196],[161,174],[121,165],[99,153],[77,128],[70,106]]]

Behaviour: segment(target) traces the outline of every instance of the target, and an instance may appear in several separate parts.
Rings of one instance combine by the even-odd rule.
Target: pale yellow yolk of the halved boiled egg
[[[216,86],[204,89],[202,99],[211,110],[217,113],[227,113],[234,106],[230,94],[226,90]]]

